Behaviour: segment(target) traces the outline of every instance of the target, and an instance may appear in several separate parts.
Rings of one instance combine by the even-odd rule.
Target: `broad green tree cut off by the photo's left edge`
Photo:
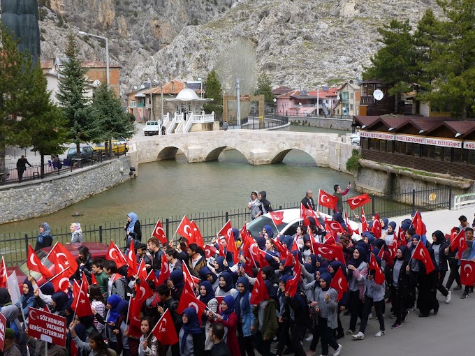
[[[43,117],[49,96],[40,66],[31,65],[31,56],[18,51],[17,41],[4,28],[0,39],[0,172],[4,172],[6,145],[29,147],[36,133],[24,134],[23,128]],[[4,181],[0,175],[0,184]]]

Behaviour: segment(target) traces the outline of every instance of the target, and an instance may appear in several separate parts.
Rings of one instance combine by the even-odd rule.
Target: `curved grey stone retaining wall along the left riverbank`
[[[138,174],[138,153],[22,184],[0,187],[0,224],[57,212],[90,195],[124,183],[129,168]]]

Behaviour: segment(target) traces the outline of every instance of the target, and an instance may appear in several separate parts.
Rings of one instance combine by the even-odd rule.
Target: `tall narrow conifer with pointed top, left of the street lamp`
[[[68,119],[68,138],[76,144],[76,152],[80,157],[80,143],[98,142],[101,128],[93,118],[90,100],[87,98],[86,70],[82,68],[82,60],[78,57],[78,46],[75,36],[68,34],[66,45],[67,61],[59,77],[57,99],[64,117]]]

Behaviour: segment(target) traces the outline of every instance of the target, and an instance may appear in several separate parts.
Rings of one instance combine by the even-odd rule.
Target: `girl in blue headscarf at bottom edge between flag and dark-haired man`
[[[196,309],[187,308],[182,314],[183,326],[178,334],[181,356],[202,356],[205,350],[205,340],[201,331]]]

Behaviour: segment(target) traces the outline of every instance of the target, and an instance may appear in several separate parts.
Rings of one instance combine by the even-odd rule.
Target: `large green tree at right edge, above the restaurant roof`
[[[451,105],[454,117],[462,120],[474,115],[475,107],[475,2],[438,0],[445,19],[427,11],[418,23],[415,37],[427,61],[421,66],[423,91],[418,98],[444,110]]]

